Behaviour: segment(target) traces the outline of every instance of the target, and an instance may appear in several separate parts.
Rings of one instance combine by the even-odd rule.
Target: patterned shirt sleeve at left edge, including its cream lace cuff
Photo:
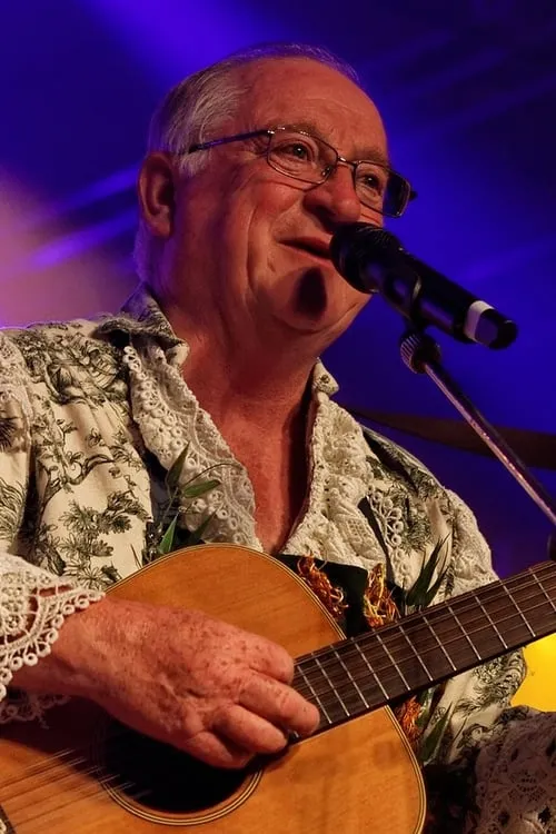
[[[20,552],[23,523],[30,525],[32,383],[23,359],[0,334],[0,723],[40,716],[53,696],[9,689],[13,674],[46,657],[66,617],[101,597],[33,564],[32,535]]]

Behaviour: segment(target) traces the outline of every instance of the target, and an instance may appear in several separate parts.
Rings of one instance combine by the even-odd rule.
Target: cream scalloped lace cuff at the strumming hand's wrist
[[[22,666],[34,666],[50,654],[66,617],[87,608],[102,597],[98,590],[71,587],[46,570],[8,554],[0,557],[0,698],[6,698],[13,674]],[[51,590],[51,594],[41,592]],[[27,698],[0,703],[0,723],[13,717],[26,719],[39,713],[39,702]],[[56,703],[56,698],[54,698]],[[31,714],[32,713],[32,714]]]

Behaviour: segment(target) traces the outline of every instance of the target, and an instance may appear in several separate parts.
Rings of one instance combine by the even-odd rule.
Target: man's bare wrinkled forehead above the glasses
[[[340,152],[365,157],[387,151],[380,115],[351,79],[306,58],[272,58],[236,70],[245,90],[235,128],[256,130],[276,125],[314,126]]]

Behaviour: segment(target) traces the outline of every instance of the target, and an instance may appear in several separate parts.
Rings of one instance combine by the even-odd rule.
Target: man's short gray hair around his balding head
[[[305,58],[324,63],[359,86],[355,69],[321,47],[270,43],[239,50],[188,76],[166,95],[150,121],[147,151],[179,153],[183,175],[200,170],[207,165],[210,151],[192,155],[186,151],[191,145],[206,141],[238,109],[246,90],[238,77],[234,77],[234,70],[254,61],[281,58]],[[140,219],[133,257],[140,280],[149,285],[156,280],[159,242]]]

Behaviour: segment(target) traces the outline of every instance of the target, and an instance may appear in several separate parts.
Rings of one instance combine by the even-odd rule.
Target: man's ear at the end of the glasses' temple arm
[[[137,190],[143,221],[151,235],[169,238],[173,230],[176,171],[167,153],[149,153],[141,165]]]

